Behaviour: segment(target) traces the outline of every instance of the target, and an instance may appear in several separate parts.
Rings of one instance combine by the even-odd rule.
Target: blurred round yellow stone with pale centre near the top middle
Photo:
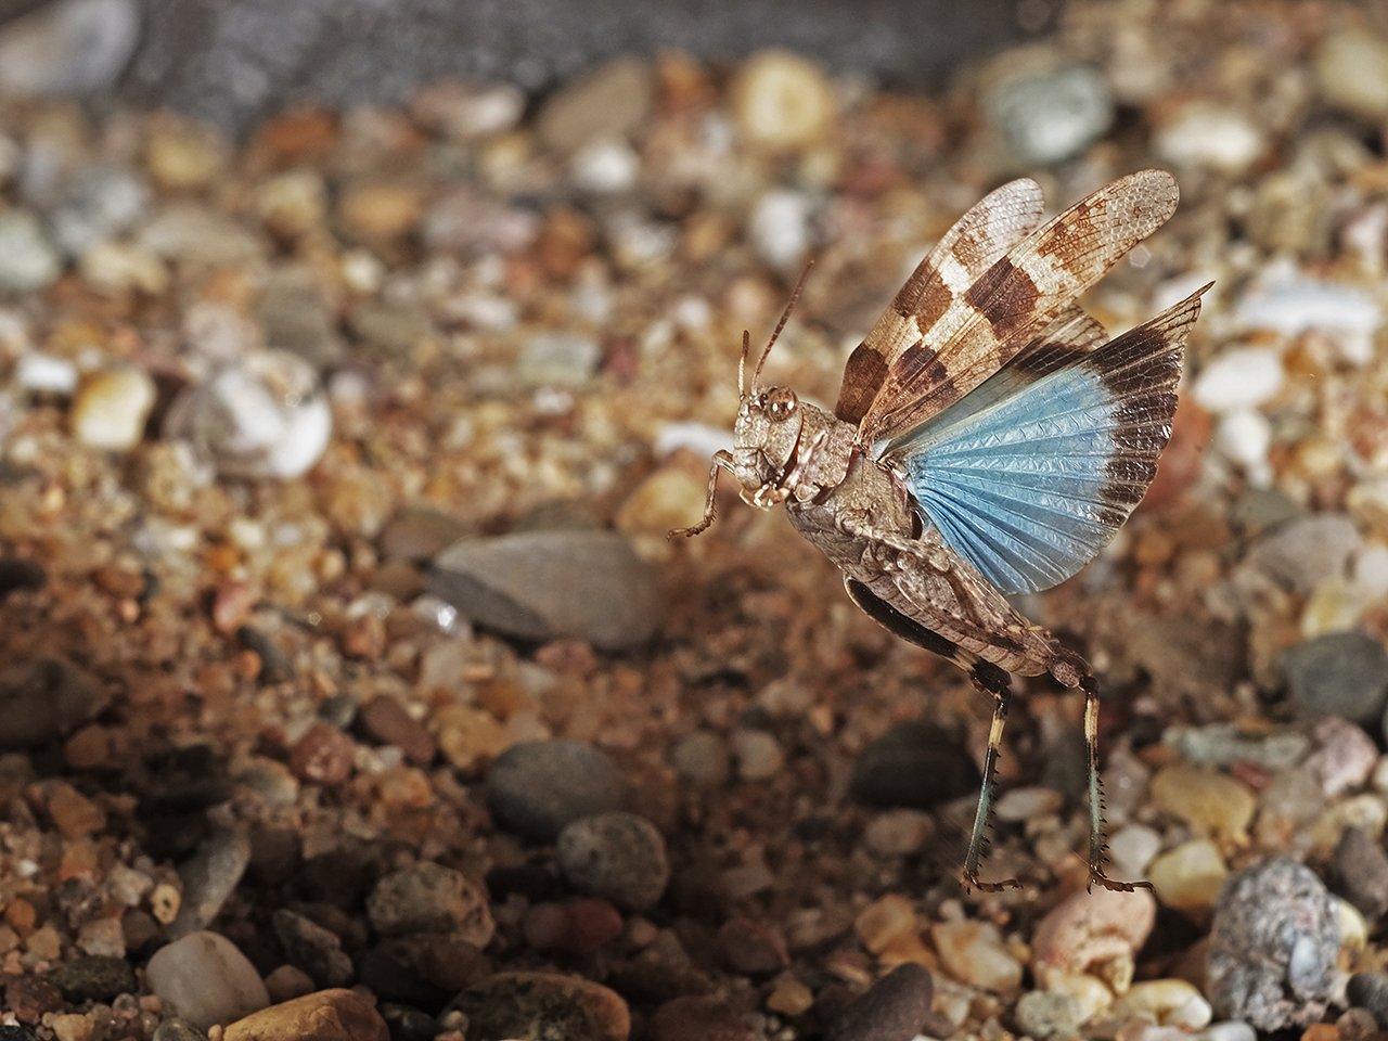
[[[786,50],[763,50],[738,71],[731,107],[738,133],[750,147],[786,151],[819,142],[838,103],[812,61]]]

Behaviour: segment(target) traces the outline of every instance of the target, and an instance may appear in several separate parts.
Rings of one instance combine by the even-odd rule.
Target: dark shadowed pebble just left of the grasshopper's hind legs
[[[930,723],[897,723],[854,763],[851,793],[876,806],[931,809],[979,791],[981,776],[962,743]]]

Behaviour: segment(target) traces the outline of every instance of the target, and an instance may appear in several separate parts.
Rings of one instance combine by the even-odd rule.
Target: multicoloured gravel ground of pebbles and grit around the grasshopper
[[[1070,4],[884,94],[787,53],[296,110],[0,103],[0,1041],[1388,1029],[1388,24]],[[725,489],[987,190],[1171,169],[1156,483],[990,713]],[[1280,1034],[1285,1037],[1285,1033]]]

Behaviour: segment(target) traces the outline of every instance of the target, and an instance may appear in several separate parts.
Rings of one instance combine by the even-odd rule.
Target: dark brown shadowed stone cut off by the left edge
[[[35,658],[0,672],[0,750],[64,737],[105,708],[100,682],[65,658]]]

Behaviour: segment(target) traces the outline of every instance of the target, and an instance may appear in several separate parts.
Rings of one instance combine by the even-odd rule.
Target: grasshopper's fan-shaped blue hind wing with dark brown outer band
[[[1088,326],[1062,328],[886,444],[924,520],[999,590],[1070,577],[1141,501],[1201,293],[1088,353],[1073,343]]]

